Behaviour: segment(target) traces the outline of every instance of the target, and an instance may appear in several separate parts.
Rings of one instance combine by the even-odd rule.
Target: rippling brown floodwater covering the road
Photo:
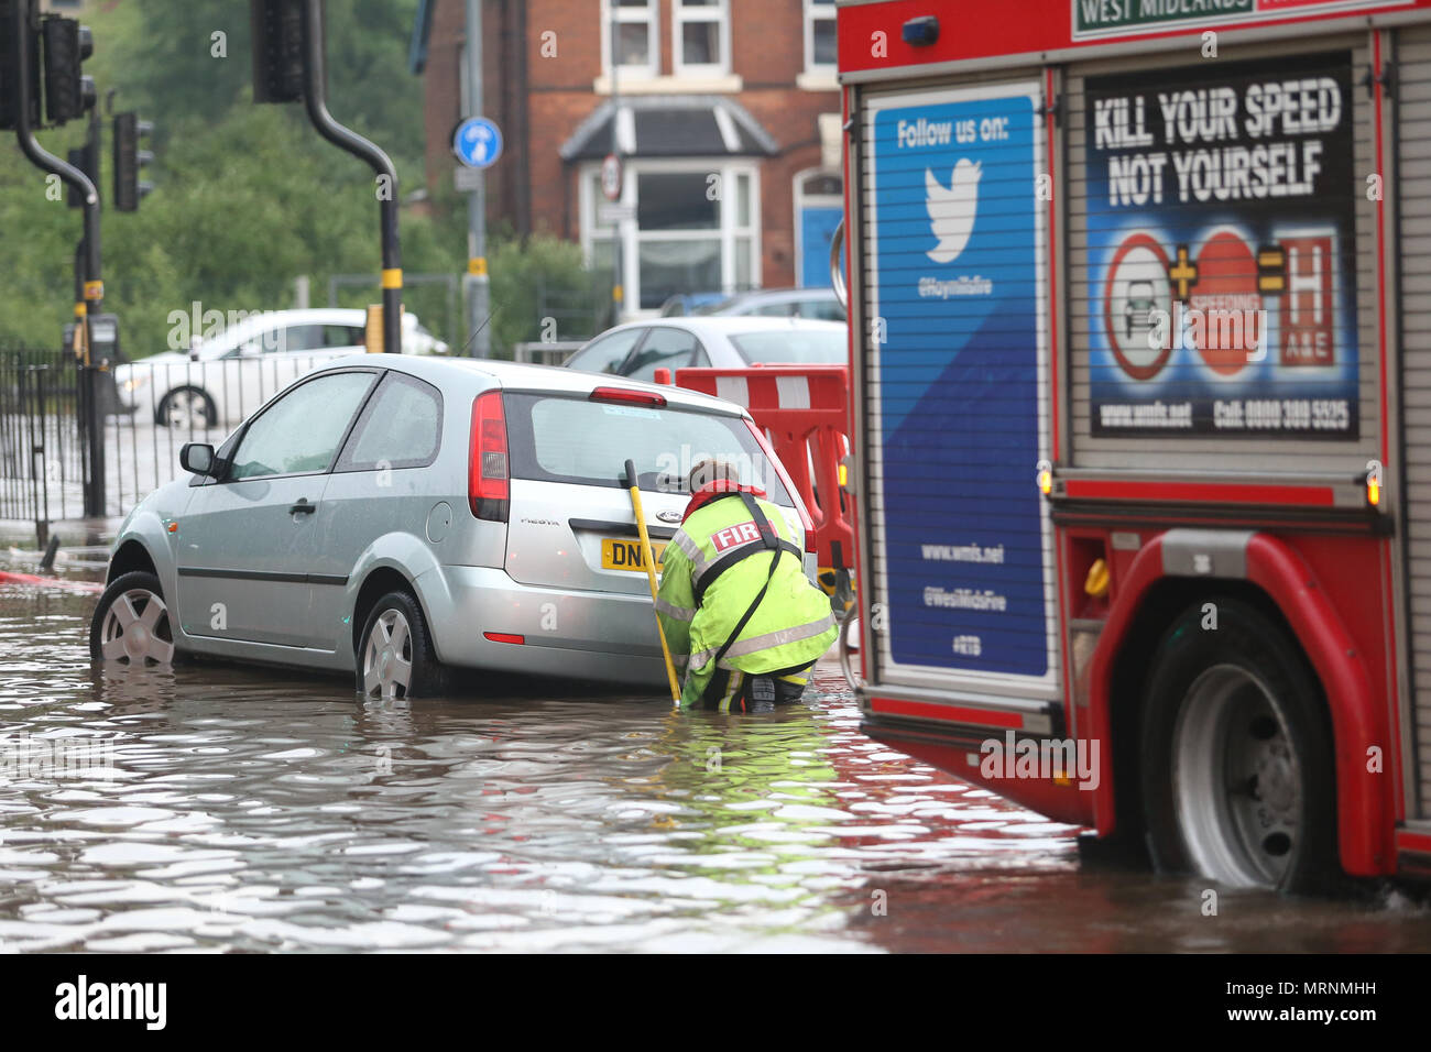
[[[1428,950],[1431,910],[1080,859],[874,743],[837,667],[774,716],[478,681],[90,668],[94,597],[0,585],[3,950]],[[17,757],[23,757],[23,763]]]

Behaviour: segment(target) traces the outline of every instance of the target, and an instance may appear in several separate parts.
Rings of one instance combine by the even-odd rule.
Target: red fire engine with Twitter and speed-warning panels
[[[1431,0],[836,10],[864,730],[1162,872],[1431,873]]]

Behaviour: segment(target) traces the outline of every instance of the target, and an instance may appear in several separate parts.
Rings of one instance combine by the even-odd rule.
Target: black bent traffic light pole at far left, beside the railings
[[[104,429],[99,414],[99,369],[90,362],[90,315],[97,313],[104,302],[104,282],[100,276],[99,190],[84,172],[60,160],[34,139],[34,127],[30,125],[31,56],[30,49],[24,46],[31,34],[29,4],[11,4],[11,11],[14,21],[7,29],[20,42],[20,46],[14,49],[19,86],[14,136],[20,143],[20,152],[40,170],[57,175],[77,189],[84,200],[84,239],[80,242],[84,281],[83,286],[77,289],[82,296],[74,302],[74,323],[82,333],[80,422],[84,428],[90,467],[84,484],[84,515],[102,518],[104,515]]]

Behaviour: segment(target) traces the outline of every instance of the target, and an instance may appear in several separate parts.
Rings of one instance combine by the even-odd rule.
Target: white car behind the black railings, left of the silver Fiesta
[[[265,311],[225,326],[193,349],[114,368],[124,412],[162,427],[203,431],[238,424],[276,391],[333,358],[363,349],[363,311]],[[404,354],[446,354],[446,344],[402,315]]]

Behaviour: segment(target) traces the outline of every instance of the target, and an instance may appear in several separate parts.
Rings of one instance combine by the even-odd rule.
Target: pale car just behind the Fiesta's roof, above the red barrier
[[[607,329],[565,365],[650,381],[663,368],[837,364],[849,359],[847,335],[841,322],[798,318],[658,318]]]

